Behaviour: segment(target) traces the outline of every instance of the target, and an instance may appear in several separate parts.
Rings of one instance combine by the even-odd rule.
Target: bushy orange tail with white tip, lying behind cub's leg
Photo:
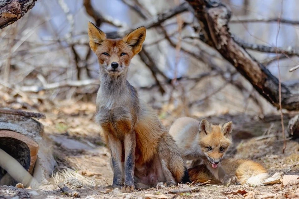
[[[252,160],[224,158],[221,166],[229,176],[236,176],[234,181],[239,184],[262,185],[268,177],[267,170],[259,163]],[[188,169],[190,180],[195,183],[203,183],[211,180],[211,183],[222,183],[204,164]],[[231,183],[233,183],[232,181]]]

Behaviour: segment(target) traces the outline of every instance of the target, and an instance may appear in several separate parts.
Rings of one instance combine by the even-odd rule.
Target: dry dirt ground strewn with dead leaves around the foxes
[[[299,198],[299,185],[282,187],[281,184],[249,187],[238,185],[203,185],[192,192],[171,194],[170,190],[197,187],[194,184],[173,187],[156,187],[133,193],[122,193],[118,189],[105,188],[112,184],[112,171],[109,164],[109,151],[104,146],[93,122],[95,106],[92,103],[60,102],[55,108],[45,109],[47,118],[40,120],[45,127],[45,134],[53,140],[53,153],[58,163],[49,183],[38,190],[18,189],[0,186],[0,198],[69,198],[63,193],[58,183],[64,182],[81,198]],[[216,120],[214,118],[211,121]],[[169,128],[175,118],[163,118]],[[223,118],[222,119],[230,119]],[[248,119],[248,118],[247,118]],[[221,120],[221,118],[220,118]],[[234,125],[234,144],[227,156],[248,158],[262,163],[269,174],[299,174],[299,143],[287,140],[285,154],[282,154],[282,136],[279,127],[271,123],[263,128],[248,125],[248,131],[240,130],[240,116],[232,117]],[[250,118],[247,122],[250,123]],[[222,120],[221,120],[222,121]],[[250,132],[251,130],[251,132]],[[265,131],[266,130],[266,131]],[[263,136],[253,137],[256,131],[265,131]],[[249,133],[248,133],[249,132]],[[252,133],[253,132],[253,133]],[[238,135],[238,136],[237,136]],[[243,135],[243,137],[240,135]],[[249,139],[246,139],[249,138]],[[2,196],[2,197],[1,197]]]

